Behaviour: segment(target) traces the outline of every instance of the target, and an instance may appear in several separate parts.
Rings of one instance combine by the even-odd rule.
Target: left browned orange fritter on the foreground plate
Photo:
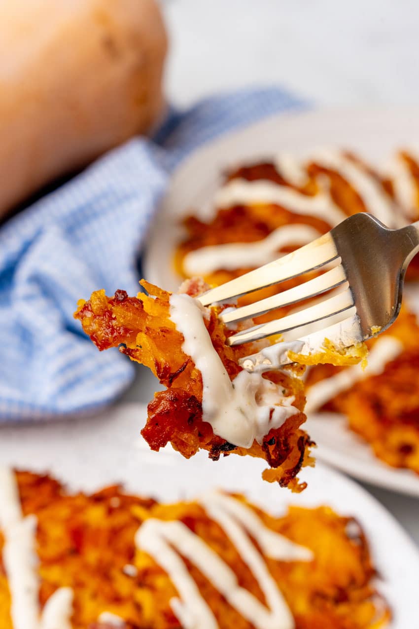
[[[23,515],[36,516],[40,606],[58,587],[73,590],[72,629],[91,629],[103,611],[126,619],[137,629],[136,580],[126,573],[135,558],[134,535],[139,511],[152,499],[130,496],[120,487],[106,487],[87,496],[70,494],[50,476],[16,472]],[[0,548],[3,537],[0,530]],[[0,626],[13,629],[10,595],[0,552]],[[107,629],[97,625],[97,629]]]

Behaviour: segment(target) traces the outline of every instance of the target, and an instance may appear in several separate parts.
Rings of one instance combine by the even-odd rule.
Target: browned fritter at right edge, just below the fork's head
[[[320,410],[343,413],[349,426],[388,465],[419,474],[419,325],[416,316],[402,308],[396,322],[379,338],[402,343],[400,354],[380,374],[362,378],[334,396]],[[378,339],[367,342],[373,348]],[[306,385],[334,376],[340,370],[317,365],[308,372]]]

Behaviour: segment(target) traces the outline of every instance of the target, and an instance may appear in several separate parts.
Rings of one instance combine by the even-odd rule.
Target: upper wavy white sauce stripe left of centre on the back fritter
[[[217,208],[249,203],[276,203],[295,214],[316,216],[330,226],[347,218],[344,211],[334,204],[328,192],[322,191],[315,196],[308,196],[264,179],[232,179],[215,193],[214,203]]]

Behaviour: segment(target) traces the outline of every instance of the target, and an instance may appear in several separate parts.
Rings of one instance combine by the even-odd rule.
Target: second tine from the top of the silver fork
[[[303,282],[303,284],[288,289],[288,291],[283,291],[266,299],[261,299],[253,304],[248,304],[248,306],[232,308],[231,310],[227,309],[225,312],[220,313],[220,319],[224,321],[224,323],[236,323],[243,319],[264,315],[275,308],[291,306],[303,299],[317,297],[317,295],[340,286],[340,284],[344,282],[346,282],[345,270],[342,265],[339,265],[321,276],[314,277],[307,282]]]

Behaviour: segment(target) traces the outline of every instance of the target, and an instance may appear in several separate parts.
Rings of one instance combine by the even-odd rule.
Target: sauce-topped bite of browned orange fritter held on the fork
[[[131,360],[149,367],[166,387],[148,404],[141,431],[151,449],[170,442],[186,458],[200,449],[212,460],[232,453],[251,455],[269,464],[263,472],[266,481],[302,491],[305,483],[298,482],[297,474],[303,465],[313,465],[313,443],[302,429],[305,367],[298,364],[299,356],[293,355],[293,364],[283,369],[249,374],[239,359],[260,346],[226,345],[234,330],[220,321],[221,308],[203,308],[193,299],[208,288],[202,280],[185,282],[187,294],[177,295],[141,284],[148,295],[129,297],[116,291],[107,297],[104,291],[94,292],[89,301],[79,302],[75,318],[99,350],[119,347]],[[187,319],[183,325],[182,320],[175,323],[174,304],[179,301],[183,309],[187,306],[181,313]],[[324,355],[337,364],[361,359],[361,354]],[[307,356],[301,359],[310,361]]]

